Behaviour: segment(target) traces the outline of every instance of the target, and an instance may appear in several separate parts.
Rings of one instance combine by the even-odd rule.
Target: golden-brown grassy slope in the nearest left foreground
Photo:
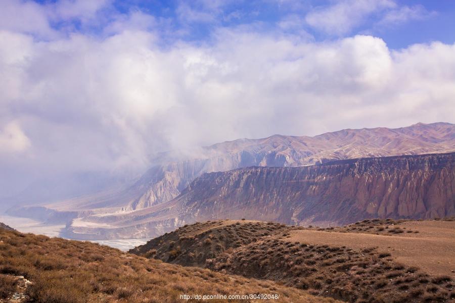
[[[180,299],[181,294],[277,294],[279,299],[274,301],[279,302],[335,302],[272,281],[167,264],[91,242],[0,228],[0,302],[196,301]],[[238,301],[259,300],[210,300]]]

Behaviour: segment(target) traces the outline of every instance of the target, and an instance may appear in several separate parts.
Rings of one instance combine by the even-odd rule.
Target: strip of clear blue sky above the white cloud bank
[[[52,26],[60,30],[71,24],[71,31],[99,34],[117,14],[128,15],[141,12],[155,18],[150,30],[167,35],[168,42],[181,39],[194,42],[209,42],[214,29],[251,26],[257,31],[281,31],[301,35],[315,41],[336,39],[354,34],[371,34],[381,37],[392,48],[403,48],[414,43],[455,41],[455,2],[452,1],[377,1],[376,8],[369,1],[368,9],[352,8],[359,20],[343,32],[331,32],[309,24],[306,17],[312,12],[321,12],[349,1],[114,1],[102,2],[99,6],[100,22],[81,26],[80,18],[56,20]],[[43,6],[52,6],[59,1],[40,0]],[[382,5],[377,5],[382,3]],[[340,12],[342,14],[343,12]],[[336,15],[332,15],[332,17]],[[389,19],[387,19],[389,17]],[[390,18],[392,17],[392,18]],[[289,28],[282,24],[288,22]],[[166,30],[163,32],[163,30]],[[169,33],[174,33],[169,36]],[[164,37],[163,37],[164,38]]]

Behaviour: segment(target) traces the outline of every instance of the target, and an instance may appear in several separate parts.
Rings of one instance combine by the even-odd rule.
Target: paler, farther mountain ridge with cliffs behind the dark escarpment
[[[176,197],[196,177],[206,172],[249,166],[296,167],[333,160],[418,155],[455,151],[455,125],[415,124],[389,129],[345,129],[319,136],[274,135],[239,139],[198,150],[197,156],[170,159],[151,168],[132,186],[140,192],[129,208],[142,209]]]

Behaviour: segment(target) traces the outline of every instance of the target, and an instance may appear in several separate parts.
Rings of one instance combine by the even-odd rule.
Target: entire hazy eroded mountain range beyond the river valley
[[[450,151],[455,125],[449,123],[239,139],[162,153],[126,189],[10,214],[66,223],[65,236],[83,239],[152,237],[185,222],[222,217],[337,225],[444,216],[452,212],[453,193],[445,183],[438,186],[453,184],[453,155],[384,157]],[[358,160],[340,162],[347,159]]]

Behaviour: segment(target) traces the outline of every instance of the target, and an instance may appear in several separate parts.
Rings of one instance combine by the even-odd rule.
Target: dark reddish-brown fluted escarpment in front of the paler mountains
[[[455,153],[363,158],[207,173],[147,209],[73,220],[68,237],[152,238],[213,219],[345,225],[368,218],[455,215]]]

